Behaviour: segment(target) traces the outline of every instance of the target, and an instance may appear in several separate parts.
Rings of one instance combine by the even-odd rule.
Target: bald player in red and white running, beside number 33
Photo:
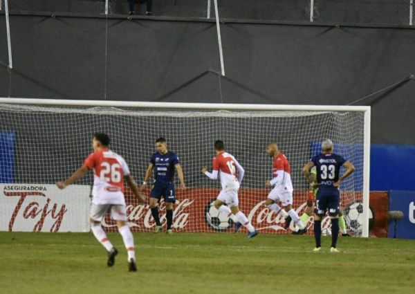
[[[275,142],[268,144],[267,153],[273,158],[273,178],[266,181],[266,187],[273,187],[273,190],[268,194],[265,201],[266,207],[273,210],[275,213],[282,212],[284,217],[288,214],[294,223],[297,225],[297,232],[295,234],[302,235],[307,229],[306,226],[299,219],[297,212],[293,210],[293,183],[291,182],[291,168],[290,163],[282,152],[279,151],[278,145]],[[277,204],[281,201],[283,210]],[[284,213],[285,212],[285,213]]]

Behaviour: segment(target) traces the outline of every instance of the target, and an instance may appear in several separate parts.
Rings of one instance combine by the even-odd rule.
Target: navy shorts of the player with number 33
[[[321,190],[317,191],[315,196],[315,210],[314,213],[319,217],[324,217],[326,211],[329,210],[329,216],[335,217],[339,214],[340,210],[340,191],[333,190]]]

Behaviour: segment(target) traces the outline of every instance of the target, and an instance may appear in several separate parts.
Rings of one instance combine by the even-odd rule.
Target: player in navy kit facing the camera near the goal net
[[[180,180],[181,188],[185,189],[185,177],[183,176],[183,169],[178,161],[177,154],[167,149],[165,138],[158,138],[156,140],[157,152],[151,156],[149,167],[145,172],[144,181],[141,185],[141,190],[144,190],[151,173],[154,170],[154,187],[151,189],[150,209],[151,215],[156,222],[154,232],[161,232],[161,222],[158,215],[158,202],[161,196],[165,199],[166,205],[166,219],[167,219],[167,233],[172,234],[173,223],[173,203],[176,202],[176,194],[174,192],[174,169],[176,168],[178,178]]]

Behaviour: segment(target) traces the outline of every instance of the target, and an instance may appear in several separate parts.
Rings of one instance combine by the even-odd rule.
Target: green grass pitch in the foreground
[[[0,232],[1,293],[412,293],[415,242],[313,237],[139,233],[138,272],[120,254],[107,268],[89,233]]]

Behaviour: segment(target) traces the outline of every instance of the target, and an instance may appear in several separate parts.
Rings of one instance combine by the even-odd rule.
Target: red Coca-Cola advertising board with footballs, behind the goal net
[[[173,229],[176,232],[233,232],[233,221],[228,216],[219,213],[212,206],[214,199],[219,194],[219,189],[188,188],[176,190],[176,205],[174,205]],[[150,190],[145,190],[149,197]],[[239,190],[239,208],[242,210],[252,225],[261,233],[287,234],[295,229],[291,222],[290,228],[285,228],[285,219],[281,213],[276,213],[264,205],[268,196],[266,189],[241,189]],[[293,208],[301,215],[306,208],[307,191],[295,191],[293,195]],[[149,210],[149,201],[140,204],[133,194],[126,192],[127,214],[129,226],[133,232],[149,232],[153,230],[155,223]],[[345,216],[349,230],[353,235],[358,235],[362,230],[362,194],[359,192],[343,192],[342,206],[345,212],[353,214],[353,219]],[[160,221],[165,226],[165,205],[160,202]],[[354,219],[356,218],[356,219]],[[115,231],[115,222],[107,216],[103,221],[107,231]],[[322,221],[323,233],[329,235],[331,222],[329,217]],[[313,232],[313,217],[308,221],[308,234]],[[242,229],[244,231],[245,229]]]

